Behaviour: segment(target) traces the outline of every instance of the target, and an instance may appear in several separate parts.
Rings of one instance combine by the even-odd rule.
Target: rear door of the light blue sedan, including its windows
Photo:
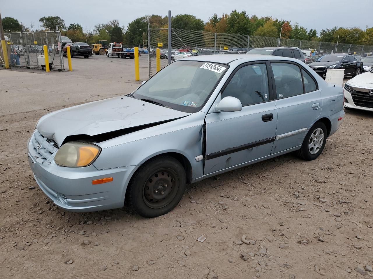
[[[272,61],[271,67],[278,111],[276,141],[271,152],[274,154],[302,144],[320,115],[322,98],[316,80],[299,64]]]

